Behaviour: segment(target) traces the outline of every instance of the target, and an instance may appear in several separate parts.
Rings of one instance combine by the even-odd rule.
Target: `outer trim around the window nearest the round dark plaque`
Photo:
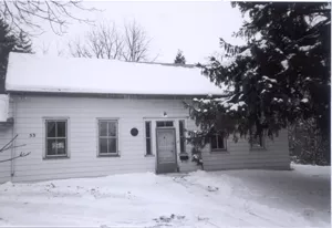
[[[116,123],[116,153],[100,153],[100,122],[108,121]],[[96,118],[96,156],[97,157],[120,157],[120,118],[98,117]]]

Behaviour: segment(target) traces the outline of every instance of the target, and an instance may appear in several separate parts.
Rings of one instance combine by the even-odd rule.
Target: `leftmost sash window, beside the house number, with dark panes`
[[[68,156],[66,120],[46,120],[46,153],[45,157]]]

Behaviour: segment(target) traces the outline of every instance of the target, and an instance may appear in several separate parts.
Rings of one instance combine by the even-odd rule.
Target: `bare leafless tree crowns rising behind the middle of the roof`
[[[70,52],[76,58],[124,60],[128,62],[154,62],[148,60],[151,39],[135,21],[124,25],[122,35],[112,22],[103,22],[85,33],[84,42],[76,39],[69,43]]]

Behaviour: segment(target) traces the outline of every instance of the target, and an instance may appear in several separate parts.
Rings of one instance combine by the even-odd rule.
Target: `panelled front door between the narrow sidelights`
[[[177,172],[175,128],[157,128],[157,174]]]

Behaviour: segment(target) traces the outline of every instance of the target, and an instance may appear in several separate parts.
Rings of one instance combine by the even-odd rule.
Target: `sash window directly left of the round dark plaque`
[[[117,155],[117,121],[98,121],[98,155]]]

